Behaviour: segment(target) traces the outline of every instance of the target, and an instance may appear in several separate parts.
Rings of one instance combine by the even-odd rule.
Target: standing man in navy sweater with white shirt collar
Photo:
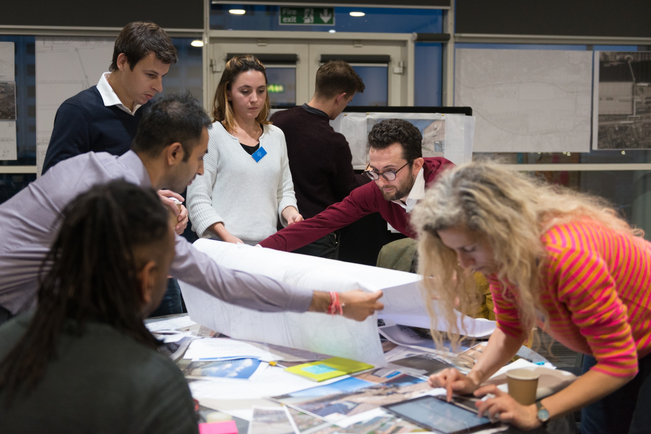
[[[43,164],[43,173],[62,160],[93,152],[122,155],[131,147],[138,123],[151,99],[163,91],[163,75],[176,63],[176,47],[158,25],[146,21],[129,23],[115,40],[110,71],[97,86],[66,99],[57,110]],[[171,190],[159,190],[163,202],[177,214],[174,227],[180,234],[187,226],[187,209],[179,211]],[[169,290],[154,316],[180,313],[178,283]]]

